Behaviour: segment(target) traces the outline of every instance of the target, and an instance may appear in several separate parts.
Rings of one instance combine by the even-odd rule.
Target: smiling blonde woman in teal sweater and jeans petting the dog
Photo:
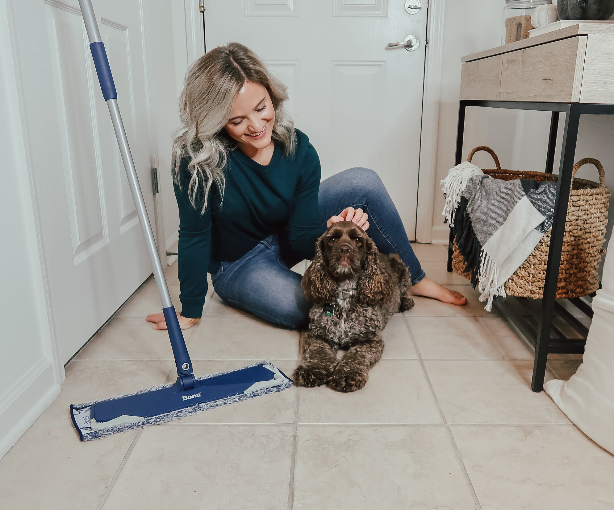
[[[182,329],[200,319],[207,273],[238,308],[290,328],[308,324],[301,275],[290,267],[314,255],[336,221],[353,221],[383,253],[410,269],[411,293],[467,302],[426,278],[391,198],[372,170],[354,168],[320,182],[320,162],[284,110],[286,87],[241,44],[215,48],[188,70],[180,99],[182,132],[173,142],[179,205]],[[162,314],[147,316],[165,329]]]

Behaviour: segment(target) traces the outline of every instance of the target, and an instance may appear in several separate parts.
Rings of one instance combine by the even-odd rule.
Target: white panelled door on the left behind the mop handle
[[[143,5],[93,4],[153,220]],[[20,0],[14,10],[23,11],[14,13],[23,34],[22,111],[49,306],[66,362],[152,270],[77,0]]]

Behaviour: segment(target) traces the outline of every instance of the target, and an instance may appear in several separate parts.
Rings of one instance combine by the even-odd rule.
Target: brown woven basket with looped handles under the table
[[[471,161],[477,151],[486,151],[494,159],[496,169],[484,169],[491,177],[509,181],[512,179],[532,179],[535,181],[556,182],[558,176],[543,172],[518,172],[500,167],[499,158],[488,147],[474,148],[467,158]],[[586,179],[574,178],[577,170],[591,163],[599,170],[599,183]],[[599,289],[597,270],[605,240],[605,228],[608,218],[610,190],[605,185],[605,172],[602,164],[593,158],[584,158],[573,166],[572,189],[569,193],[567,206],[567,221],[561,252],[561,267],[559,281],[556,287],[556,299],[582,297]],[[535,246],[526,261],[510,276],[504,284],[508,295],[517,297],[543,297],[543,286],[546,280],[546,265],[548,264],[548,249],[550,248],[550,230]],[[454,244],[452,256],[454,271],[470,279],[470,273],[465,272],[465,264],[459,249]]]

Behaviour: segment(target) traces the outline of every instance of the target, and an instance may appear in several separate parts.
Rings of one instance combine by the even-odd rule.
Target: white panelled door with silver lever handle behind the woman
[[[413,4],[419,2],[414,1]],[[240,42],[289,89],[322,178],[375,170],[410,239],[416,230],[427,9],[405,0],[208,0],[206,49]],[[414,34],[418,49],[387,48]]]

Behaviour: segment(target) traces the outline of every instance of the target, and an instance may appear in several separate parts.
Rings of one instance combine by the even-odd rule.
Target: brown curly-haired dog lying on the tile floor
[[[381,333],[397,311],[409,310],[410,273],[397,254],[379,253],[359,226],[340,221],[316,242],[316,256],[303,276],[312,302],[303,360],[294,371],[299,386],[343,392],[365,386],[381,358]],[[347,352],[338,360],[339,349]]]

